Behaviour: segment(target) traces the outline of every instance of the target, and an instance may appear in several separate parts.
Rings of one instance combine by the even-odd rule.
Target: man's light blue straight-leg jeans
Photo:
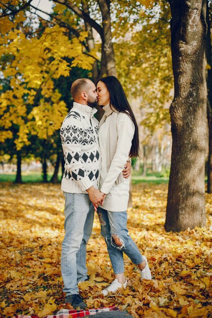
[[[62,243],[61,272],[63,291],[67,296],[78,294],[77,282],[87,278],[86,244],[92,234],[94,207],[86,194],[65,196],[65,237]]]

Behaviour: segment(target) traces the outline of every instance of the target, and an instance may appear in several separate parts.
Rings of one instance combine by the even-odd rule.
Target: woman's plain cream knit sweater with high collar
[[[108,211],[119,212],[127,210],[129,200],[130,179],[124,179],[124,182],[115,183],[118,175],[122,172],[126,161],[129,158],[129,152],[134,136],[134,124],[131,118],[125,113],[119,113],[117,116],[117,140],[116,151],[111,162],[110,168],[107,168],[107,142],[110,122],[115,113],[111,110],[109,104],[103,107],[105,111],[105,121],[101,123],[99,129],[99,143],[101,149],[101,173],[100,173],[100,190],[107,194],[102,208]],[[111,127],[110,127],[111,129]],[[110,142],[113,136],[110,131]]]

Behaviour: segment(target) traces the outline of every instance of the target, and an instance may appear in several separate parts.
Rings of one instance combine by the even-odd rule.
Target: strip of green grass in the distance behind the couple
[[[52,174],[48,175],[48,181],[50,181]],[[14,182],[15,181],[15,173],[10,174],[0,174],[0,182]],[[61,176],[59,176],[60,178]],[[22,181],[23,182],[42,182],[42,174],[40,172],[23,172],[22,173]],[[160,183],[168,183],[168,177],[158,177],[154,175],[147,175],[146,177],[138,175],[132,176],[132,182],[133,184],[137,184],[140,182],[146,182],[146,183],[153,183],[153,184],[160,184]]]

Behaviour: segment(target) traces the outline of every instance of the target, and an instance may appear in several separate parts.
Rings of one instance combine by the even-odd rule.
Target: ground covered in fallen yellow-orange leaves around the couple
[[[1,197],[1,314],[42,317],[62,309],[64,198],[59,185],[2,183]],[[111,265],[95,218],[87,246],[91,276],[80,285],[89,308],[116,305],[135,318],[212,317],[212,195],[206,195],[206,227],[181,233],[164,230],[166,197],[166,184],[134,185],[128,227],[149,260],[153,280],[141,283],[126,258],[128,288],[105,298],[100,291],[112,280]]]

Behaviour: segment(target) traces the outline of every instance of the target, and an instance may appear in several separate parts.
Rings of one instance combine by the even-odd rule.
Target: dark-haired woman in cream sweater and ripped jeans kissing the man
[[[127,206],[129,179],[124,179],[122,169],[128,157],[138,156],[138,125],[122,85],[114,76],[103,77],[97,82],[98,104],[105,111],[99,124],[99,143],[102,155],[100,191],[103,201],[97,209],[101,234],[115,279],[102,291],[106,296],[119,288],[126,288],[123,252],[139,268],[142,279],[152,279],[148,262],[128,234]]]

